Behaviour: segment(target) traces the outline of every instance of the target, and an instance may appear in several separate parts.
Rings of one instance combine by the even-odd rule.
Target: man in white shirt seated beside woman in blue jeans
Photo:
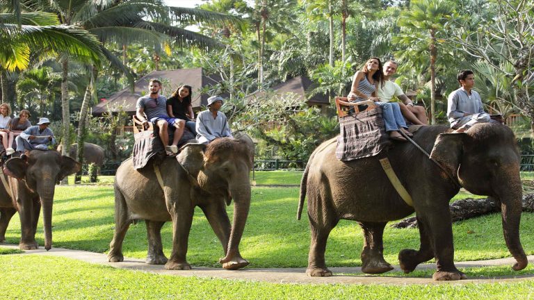
[[[391,76],[394,76],[397,72],[398,63],[394,60],[389,60],[384,64],[384,84],[378,85],[376,95],[381,102],[389,102],[395,96],[404,103],[398,103],[401,107],[401,113],[408,122],[415,125],[428,125],[428,117],[426,116],[426,110],[423,106],[415,106],[412,100],[408,98],[398,84],[391,81]]]

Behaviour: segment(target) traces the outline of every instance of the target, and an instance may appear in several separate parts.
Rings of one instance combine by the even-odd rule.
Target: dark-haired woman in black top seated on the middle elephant
[[[172,96],[167,99],[167,113],[169,117],[183,119],[186,122],[186,128],[195,136],[195,114],[191,106],[191,85],[181,85]]]

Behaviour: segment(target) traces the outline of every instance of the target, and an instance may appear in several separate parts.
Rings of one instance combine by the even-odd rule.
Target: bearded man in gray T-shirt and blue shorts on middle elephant
[[[186,122],[183,119],[169,117],[167,114],[167,99],[159,94],[161,81],[150,79],[150,94],[137,99],[136,116],[145,126],[152,122],[159,127],[159,137],[167,154],[178,153],[178,142],[184,133]],[[172,137],[172,144],[169,144],[168,126],[175,127],[175,134]]]

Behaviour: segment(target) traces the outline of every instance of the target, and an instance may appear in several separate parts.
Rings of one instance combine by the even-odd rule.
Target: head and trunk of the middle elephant
[[[241,258],[238,246],[250,208],[249,176],[254,159],[253,147],[252,141],[218,138],[208,144],[205,152],[195,144],[188,144],[184,150],[190,151],[189,154],[177,158],[190,174],[197,174],[197,183],[203,192],[225,199],[227,205],[234,200],[234,219],[226,256],[220,260],[226,269],[237,268],[246,262]]]

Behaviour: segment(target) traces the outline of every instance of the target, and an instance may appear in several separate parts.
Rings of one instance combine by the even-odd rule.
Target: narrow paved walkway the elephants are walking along
[[[18,249],[14,244],[0,244],[0,247],[11,249]],[[464,283],[501,283],[503,281],[523,281],[525,279],[534,279],[534,274],[521,276],[499,276],[496,278],[478,277],[469,278],[462,281],[433,281],[432,278],[414,278],[414,277],[385,277],[385,276],[370,276],[362,273],[360,267],[331,267],[330,270],[334,272],[332,277],[308,277],[306,276],[305,268],[254,268],[246,267],[242,270],[229,271],[223,268],[210,267],[195,267],[188,271],[173,271],[164,269],[163,265],[147,265],[144,260],[138,258],[124,258],[122,263],[108,263],[106,254],[94,253],[81,250],[70,250],[63,248],[52,248],[50,251],[44,250],[40,247],[38,250],[27,250],[22,254],[13,255],[28,255],[36,254],[42,256],[60,256],[65,258],[73,258],[82,260],[86,263],[97,265],[107,265],[117,267],[120,269],[137,270],[143,272],[151,272],[154,274],[167,274],[175,276],[198,276],[211,278],[225,278],[225,279],[239,279],[248,281],[265,281],[270,283],[343,283],[343,284],[464,284]],[[528,262],[534,263],[534,256],[528,256]],[[478,260],[458,262],[456,267],[484,267],[492,265],[508,265],[512,267],[515,263],[513,258],[501,258],[496,260]],[[422,264],[417,269],[435,269],[435,264]],[[398,266],[395,266],[395,271],[401,271]],[[344,274],[344,275],[335,275]]]

